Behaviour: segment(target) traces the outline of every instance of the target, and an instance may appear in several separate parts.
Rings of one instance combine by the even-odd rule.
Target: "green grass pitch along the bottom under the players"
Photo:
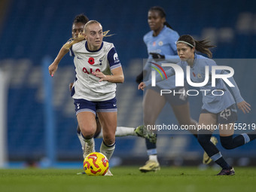
[[[139,172],[137,166],[111,169],[114,176],[76,175],[81,169],[0,169],[0,191],[255,191],[256,167],[236,167],[236,175],[217,176],[219,170],[161,167]]]

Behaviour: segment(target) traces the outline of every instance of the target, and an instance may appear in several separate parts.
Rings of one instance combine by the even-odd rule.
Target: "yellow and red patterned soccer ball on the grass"
[[[84,172],[87,175],[105,175],[108,171],[108,159],[104,154],[93,152],[84,159]]]

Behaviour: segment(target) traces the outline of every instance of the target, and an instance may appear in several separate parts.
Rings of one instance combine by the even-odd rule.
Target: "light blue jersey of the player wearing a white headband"
[[[180,61],[177,63],[178,66],[181,66],[184,72],[184,77],[187,78],[187,62]],[[206,79],[206,66],[209,66],[209,81],[206,85],[199,87],[203,95],[203,106],[202,109],[206,109],[211,113],[219,113],[225,108],[228,108],[230,105],[233,105],[235,102],[242,102],[242,96],[240,94],[239,88],[236,85],[233,77],[229,78],[230,82],[235,87],[230,87],[230,90],[233,92],[233,95],[230,93],[230,90],[227,88],[226,84],[221,78],[217,78],[215,82],[215,87],[212,87],[212,66],[217,66],[216,62],[212,59],[206,58],[205,56],[195,54],[194,65],[190,67],[190,81],[192,83],[202,83]],[[216,74],[227,74],[224,70],[216,70]],[[175,70],[169,68],[166,70],[166,75],[169,77],[175,77]],[[160,75],[156,76],[156,81],[160,83],[162,78]],[[151,81],[148,80],[145,82],[146,86],[151,84]],[[174,82],[175,84],[175,82]],[[216,91],[221,90],[221,91]],[[214,91],[214,94],[212,93]],[[223,93],[223,94],[222,94]],[[233,98],[233,96],[235,98]],[[235,101],[236,99],[236,101]]]

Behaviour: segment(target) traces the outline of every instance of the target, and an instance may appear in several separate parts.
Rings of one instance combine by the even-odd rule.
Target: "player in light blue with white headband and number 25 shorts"
[[[194,83],[202,83],[205,81],[206,66],[209,66],[209,75],[212,75],[212,66],[216,66],[214,60],[195,53],[195,50],[197,50],[200,53],[205,53],[209,57],[212,57],[212,52],[209,50],[210,47],[215,46],[209,45],[209,42],[206,40],[196,41],[190,35],[182,35],[178,38],[177,50],[181,61],[178,62],[177,65],[181,66],[184,72],[186,71],[186,67],[190,66],[190,78]],[[218,75],[228,74],[222,69],[216,70],[215,73]],[[166,75],[175,75],[175,71],[169,69],[166,71]],[[156,79],[156,81],[161,81],[160,75],[158,75]],[[256,131],[242,133],[233,138],[234,123],[237,120],[236,105],[243,113],[251,111],[251,105],[242,99],[239,88],[233,77],[228,79],[231,84],[234,85],[234,87],[230,87],[233,95],[230,93],[230,90],[224,84],[222,79],[218,79],[215,87],[213,87],[212,78],[209,77],[208,83],[200,87],[200,90],[209,90],[209,92],[208,94],[203,94],[203,106],[198,123],[198,128],[200,127],[200,129],[198,130],[197,138],[209,157],[221,166],[222,169],[218,175],[234,175],[235,171],[233,167],[224,160],[224,157],[222,157],[218,148],[210,141],[212,132],[215,130],[215,125],[219,125],[218,129],[221,145],[226,149],[237,148],[256,139]],[[149,84],[151,84],[150,81],[146,81],[145,83],[142,82],[139,84],[139,89],[143,90]],[[215,90],[215,95],[211,94],[212,90]],[[207,129],[205,127],[207,127]]]

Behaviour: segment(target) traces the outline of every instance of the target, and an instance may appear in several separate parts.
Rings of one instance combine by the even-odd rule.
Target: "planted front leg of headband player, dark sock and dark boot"
[[[221,166],[222,170],[218,173],[218,175],[234,175],[233,167],[231,167],[224,157],[222,157],[221,152],[218,148],[211,142],[212,130],[205,129],[205,126],[213,126],[217,124],[217,115],[211,113],[202,113],[200,114],[199,126],[198,126],[198,142],[203,147],[206,154],[215,161],[219,166]]]

